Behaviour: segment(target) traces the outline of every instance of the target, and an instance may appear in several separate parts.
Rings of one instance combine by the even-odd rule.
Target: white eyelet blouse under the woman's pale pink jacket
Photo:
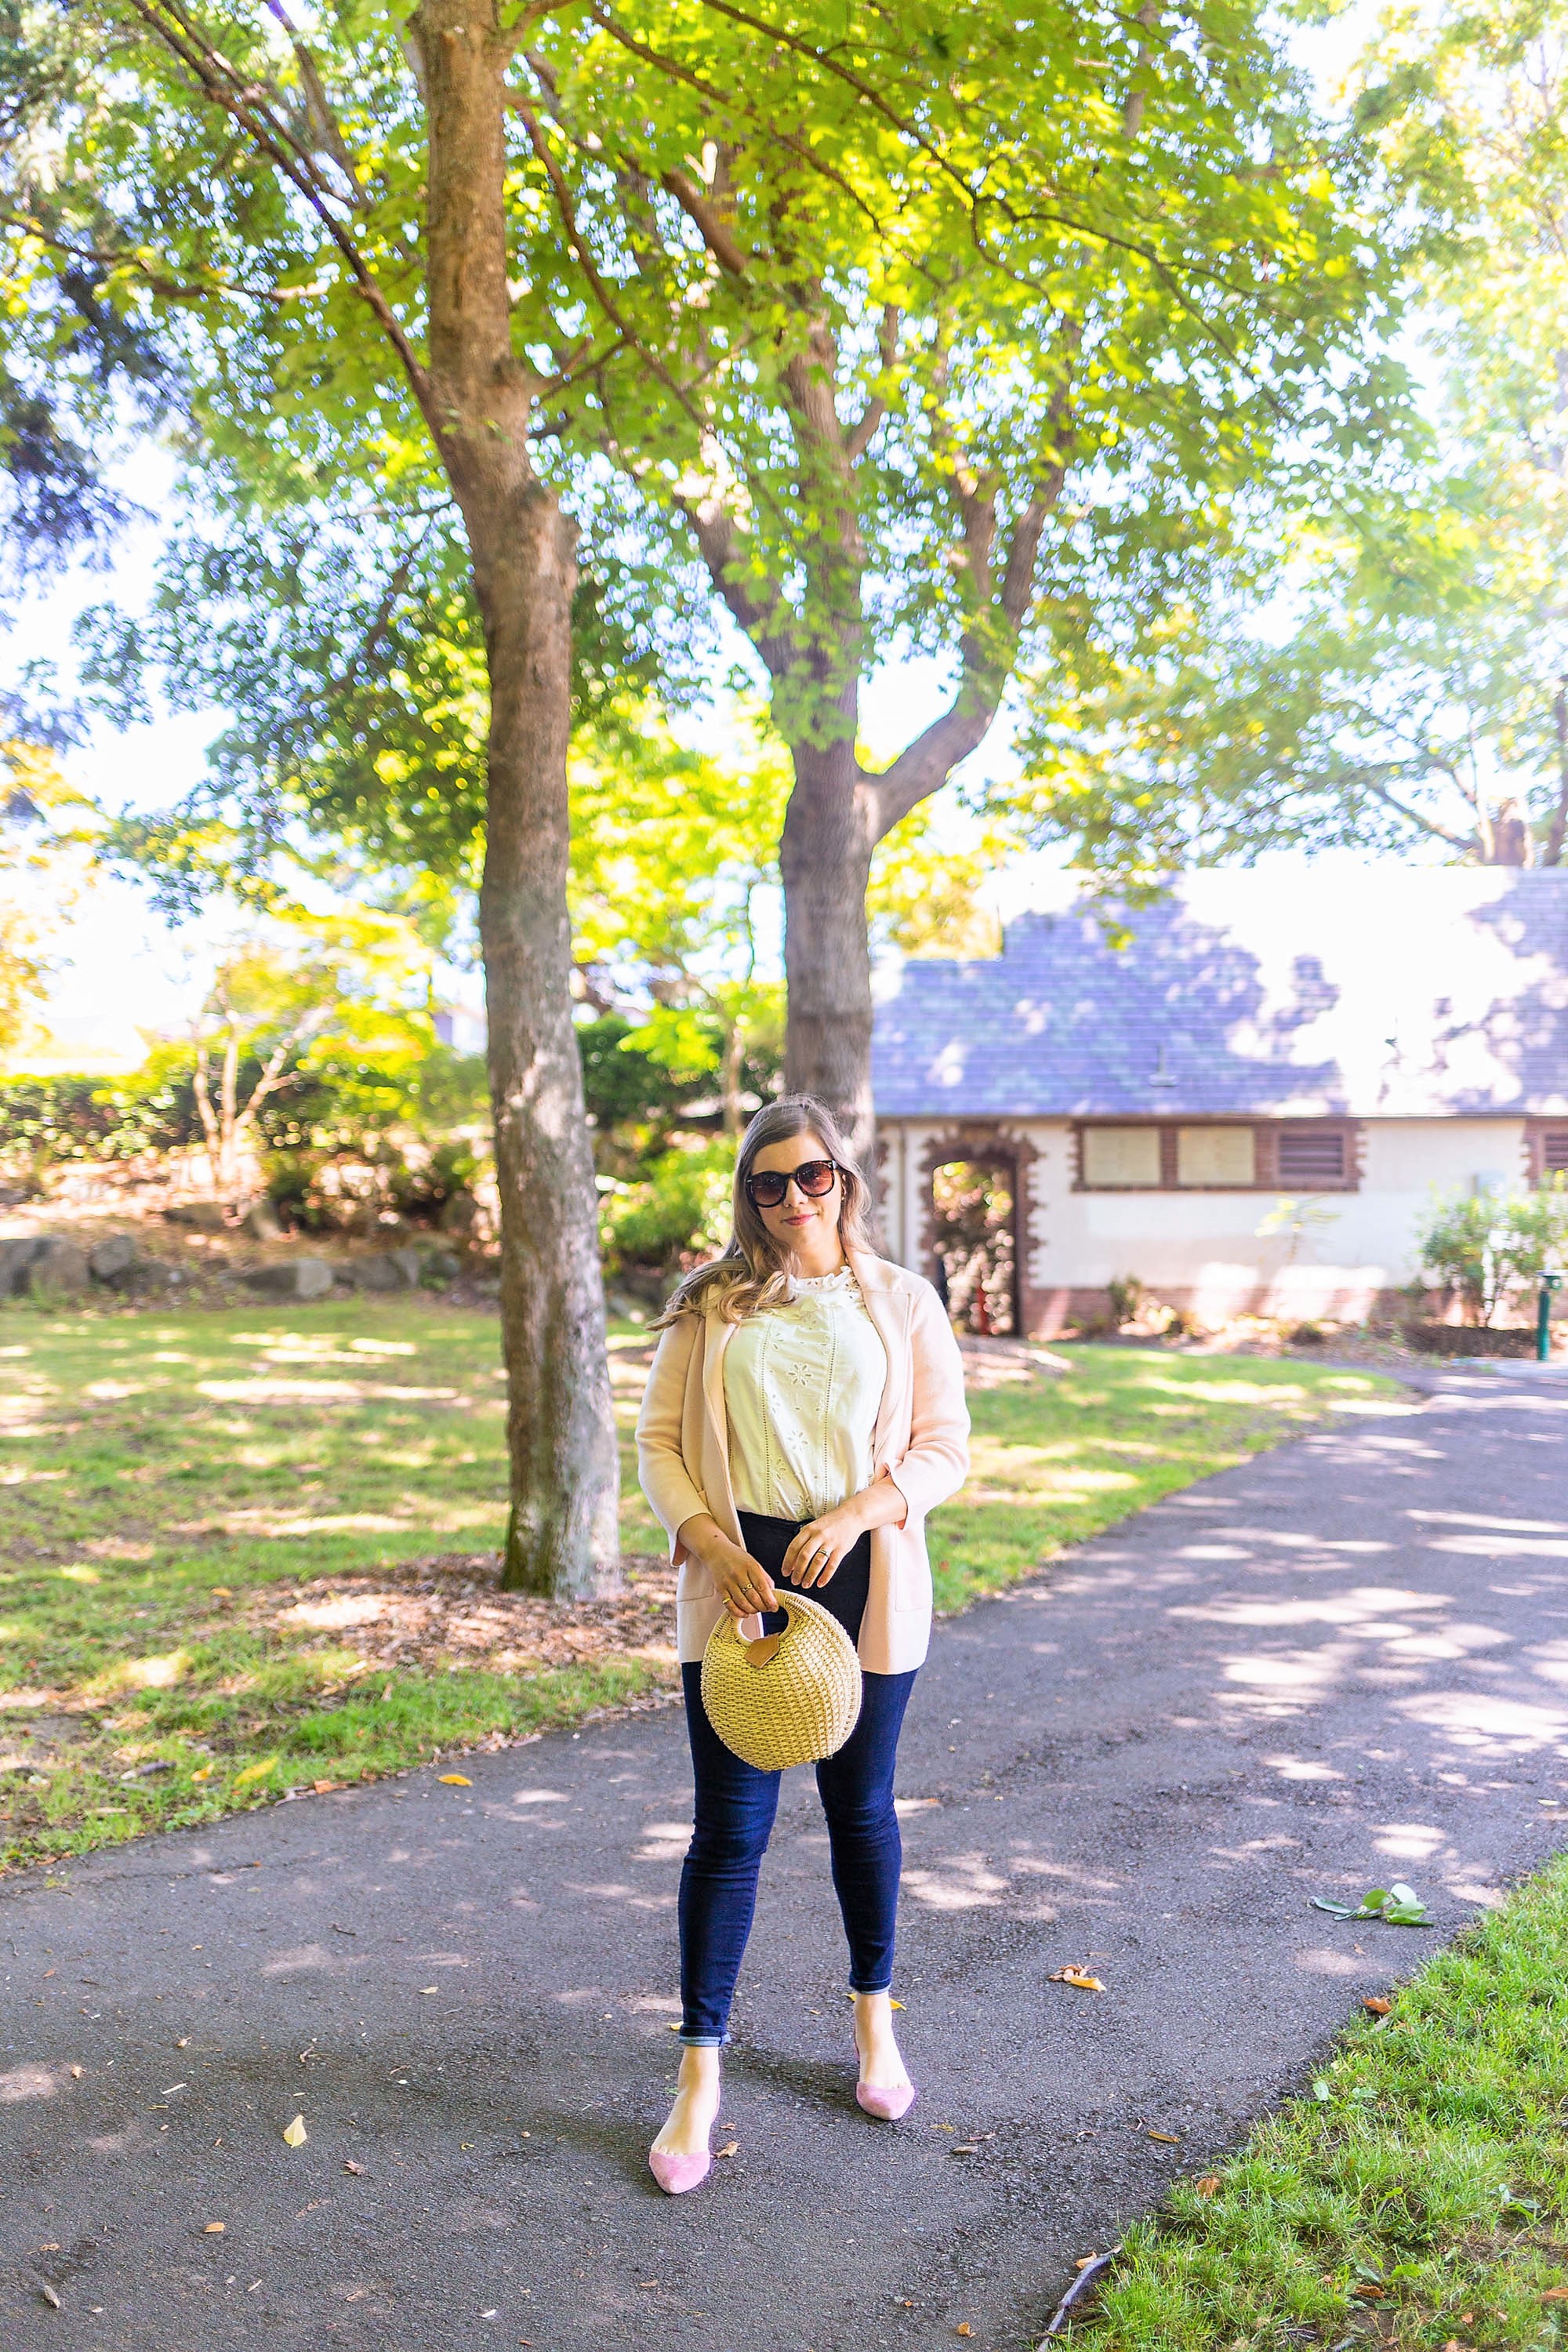
[[[799,1275],[785,1305],[748,1315],[724,1350],[736,1510],[816,1519],[870,1486],[886,1376],[849,1265]]]

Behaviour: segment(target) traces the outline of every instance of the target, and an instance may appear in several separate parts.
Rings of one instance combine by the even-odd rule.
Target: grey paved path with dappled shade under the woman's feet
[[[1436,1940],[1335,1926],[1314,1891],[1408,1877],[1453,1926],[1559,1842],[1568,1392],[1436,1390],[940,1632],[903,1755],[924,2096],[898,2129],[851,2105],[797,1773],[729,2060],[738,2152],[679,2204],[651,2187],[672,1712],[480,1757],[473,1790],[418,1773],[9,1882],[0,2343],[1030,2343],[1074,2256]],[[1081,1959],[1105,1994],[1048,1983]]]

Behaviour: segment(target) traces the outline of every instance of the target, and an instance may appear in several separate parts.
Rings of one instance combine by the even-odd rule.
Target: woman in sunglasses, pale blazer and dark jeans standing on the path
[[[778,1809],[778,1773],[745,1764],[708,1722],[701,1661],[724,1611],[748,1635],[783,1625],[776,1578],[830,1609],[860,1653],[860,1719],[816,1766],[816,1785],[849,1938],[856,2098],[886,2119],[914,2100],[891,2002],[903,1860],[893,1762],[931,1635],[924,1519],[964,1482],[969,1414],[938,1296],[872,1254],[865,1200],[820,1103],[790,1096],[759,1110],[736,1162],[729,1249],[665,1308],[637,1418],[642,1491],[682,1571],[696,1776],[679,1886],[684,2053],[649,2154],[670,2194],[710,2166],[719,2049]]]

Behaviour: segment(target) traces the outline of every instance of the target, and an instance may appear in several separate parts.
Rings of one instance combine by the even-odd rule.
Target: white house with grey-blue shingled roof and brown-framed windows
[[[999,1329],[1128,1277],[1201,1322],[1361,1319],[1434,1190],[1568,1171],[1566,870],[1213,870],[1119,922],[1063,877],[1001,955],[879,981],[884,1242],[933,1272],[933,1178],[997,1169]]]

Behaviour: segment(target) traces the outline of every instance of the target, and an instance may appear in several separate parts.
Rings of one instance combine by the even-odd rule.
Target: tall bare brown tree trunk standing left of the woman
[[[567,739],[576,532],[534,470],[536,379],[512,350],[494,0],[421,0],[430,120],[430,409],[475,560],[489,666],[480,889],[501,1188],[508,1592],[578,1599],[614,1576],[621,1465],[583,1065],[571,1023]]]

